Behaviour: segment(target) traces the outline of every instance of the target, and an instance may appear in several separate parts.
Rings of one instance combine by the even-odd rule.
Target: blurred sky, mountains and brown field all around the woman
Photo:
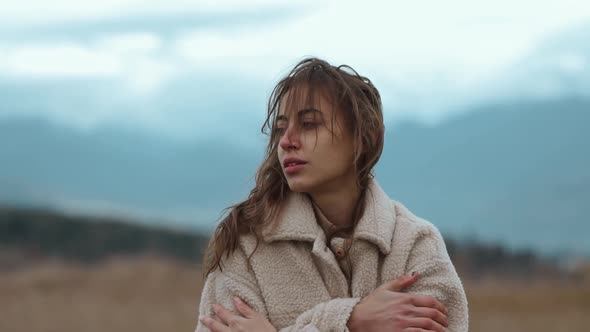
[[[0,2],[0,330],[191,331],[201,254],[305,56],[379,89],[388,194],[473,331],[590,329],[590,4]]]

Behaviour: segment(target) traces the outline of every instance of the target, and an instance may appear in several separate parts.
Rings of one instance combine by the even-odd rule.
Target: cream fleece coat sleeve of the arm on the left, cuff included
[[[224,262],[223,271],[216,270],[207,276],[201,292],[199,315],[213,316],[212,304],[221,304],[236,313],[232,299],[238,296],[252,309],[268,319],[268,310],[255,276],[248,269],[246,256],[240,250]],[[289,299],[285,299],[288,301]],[[348,331],[346,323],[360,298],[338,298],[316,304],[300,314],[295,322],[280,329],[281,332]],[[197,320],[195,332],[209,329]]]

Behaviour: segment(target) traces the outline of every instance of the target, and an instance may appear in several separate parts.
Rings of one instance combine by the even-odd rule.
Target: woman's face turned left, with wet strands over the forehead
[[[313,194],[355,186],[353,139],[342,114],[322,96],[314,105],[287,110],[288,98],[287,92],[275,130],[280,137],[278,158],[289,188]]]

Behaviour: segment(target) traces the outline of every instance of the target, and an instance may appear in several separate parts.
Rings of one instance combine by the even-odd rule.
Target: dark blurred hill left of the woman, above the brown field
[[[206,244],[206,236],[164,226],[0,207],[0,253],[4,253],[0,265],[4,267],[47,258],[92,263],[134,255],[198,262]]]

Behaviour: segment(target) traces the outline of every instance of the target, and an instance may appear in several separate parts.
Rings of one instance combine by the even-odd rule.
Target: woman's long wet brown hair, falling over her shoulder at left
[[[290,191],[277,156],[280,133],[273,130],[280,103],[285,102],[283,97],[287,92],[287,109],[295,109],[291,106],[309,103],[322,94],[343,114],[354,140],[354,170],[362,193],[355,222],[364,212],[366,188],[383,150],[385,129],[381,97],[371,81],[350,66],[336,67],[321,59],[306,58],[279,81],[270,95],[261,128],[270,139],[264,161],[256,173],[256,184],[245,201],[226,209],[230,212],[217,226],[205,253],[206,275],[222,268],[222,257],[234,252],[241,234],[254,234],[259,241],[262,226],[277,216]],[[333,112],[332,121],[335,115]]]

